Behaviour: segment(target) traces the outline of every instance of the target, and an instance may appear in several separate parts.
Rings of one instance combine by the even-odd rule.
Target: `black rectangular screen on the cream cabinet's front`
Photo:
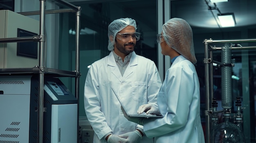
[[[36,33],[27,30],[17,29],[17,37],[33,37]],[[17,56],[25,56],[28,58],[37,58],[37,43],[38,42],[18,42]]]

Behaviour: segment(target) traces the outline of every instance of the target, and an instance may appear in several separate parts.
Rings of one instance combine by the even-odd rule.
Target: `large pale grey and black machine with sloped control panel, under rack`
[[[43,143],[77,142],[77,99],[59,78],[44,80]],[[38,75],[0,76],[0,143],[37,143]]]

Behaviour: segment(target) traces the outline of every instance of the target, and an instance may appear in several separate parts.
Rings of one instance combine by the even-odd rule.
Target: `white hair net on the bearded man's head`
[[[113,50],[114,49],[114,44],[115,44],[115,37],[117,35],[117,33],[121,30],[123,30],[124,28],[126,28],[126,26],[133,26],[135,28],[135,30],[137,29],[137,25],[135,20],[132,20],[131,18],[119,18],[117,20],[114,20],[113,22],[111,22],[108,26],[108,50]],[[112,40],[110,40],[110,38],[112,37]]]

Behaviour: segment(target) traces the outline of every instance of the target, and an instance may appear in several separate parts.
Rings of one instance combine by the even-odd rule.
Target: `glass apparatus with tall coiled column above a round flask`
[[[221,67],[221,98],[222,98],[222,117],[224,122],[214,124],[210,134],[210,143],[245,143],[245,136],[241,130],[242,114],[240,113],[240,98],[237,98],[236,106],[238,112],[235,117],[237,124],[231,123],[231,108],[232,108],[232,91],[231,91],[231,47],[225,44],[222,47],[222,63]],[[215,106],[213,106],[215,107]],[[213,118],[214,119],[214,118]]]

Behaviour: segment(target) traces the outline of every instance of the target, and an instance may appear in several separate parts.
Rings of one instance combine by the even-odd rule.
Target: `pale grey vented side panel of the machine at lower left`
[[[7,79],[7,78],[5,78]],[[29,143],[30,80],[0,76],[0,142]]]

